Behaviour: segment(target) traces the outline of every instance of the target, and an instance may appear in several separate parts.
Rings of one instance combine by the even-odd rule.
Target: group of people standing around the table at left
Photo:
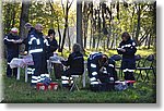
[[[33,27],[30,23],[25,24],[25,28],[28,30],[27,37],[22,39],[17,36],[17,28],[11,28],[10,33],[5,35],[3,41],[7,46],[7,76],[16,77],[17,69],[11,69],[10,62],[13,58],[19,58],[20,45],[25,45],[25,53],[32,54],[34,65],[30,66],[34,70],[32,75],[32,86],[36,85],[40,78],[40,74],[48,74],[47,60],[54,54],[54,51],[58,49],[57,40],[55,39],[55,30],[49,29],[48,35],[43,35],[43,25],[36,24]]]

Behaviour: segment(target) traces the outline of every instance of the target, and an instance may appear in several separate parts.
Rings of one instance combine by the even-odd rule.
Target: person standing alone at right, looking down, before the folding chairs
[[[122,54],[121,70],[125,73],[126,81],[134,81],[133,71],[136,69],[136,42],[131,39],[130,35],[127,32],[122,33],[121,39],[122,41],[117,48],[118,54]]]

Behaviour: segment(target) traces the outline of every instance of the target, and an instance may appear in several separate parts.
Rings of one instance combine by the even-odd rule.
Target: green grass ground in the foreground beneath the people
[[[112,52],[113,54],[116,51]],[[138,51],[140,53],[140,51]],[[153,51],[143,51],[145,54],[154,53]],[[136,74],[137,76],[138,74]],[[144,74],[143,74],[144,75]],[[143,82],[139,79],[134,84],[134,88],[128,88],[124,91],[105,91],[93,92],[89,89],[89,82],[86,87],[82,88],[80,85],[80,91],[69,91],[67,89],[59,88],[58,90],[37,91],[33,89],[28,83],[24,83],[23,71],[21,73],[21,79],[5,77],[5,62],[3,63],[3,94],[4,99],[2,102],[12,103],[155,103],[156,102],[156,82],[150,72],[150,81]],[[51,75],[55,81],[54,75]]]

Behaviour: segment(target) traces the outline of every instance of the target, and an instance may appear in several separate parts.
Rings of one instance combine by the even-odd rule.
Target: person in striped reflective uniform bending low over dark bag
[[[116,77],[115,72],[113,72],[114,69],[115,63],[110,62],[106,54],[102,52],[91,53],[87,59],[91,90],[103,91],[112,89]]]

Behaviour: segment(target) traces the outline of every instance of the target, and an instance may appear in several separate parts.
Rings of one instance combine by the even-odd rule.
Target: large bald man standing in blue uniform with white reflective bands
[[[35,29],[30,34],[30,53],[34,61],[34,74],[32,75],[32,86],[36,87],[36,84],[40,82],[40,75],[47,74],[47,61],[46,61],[46,40],[43,35],[43,25],[36,24]]]

